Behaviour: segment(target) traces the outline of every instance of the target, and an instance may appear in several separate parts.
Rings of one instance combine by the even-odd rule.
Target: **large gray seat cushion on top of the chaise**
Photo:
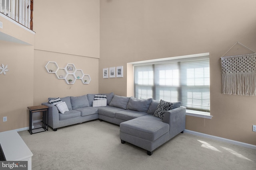
[[[169,132],[169,124],[162,122],[160,118],[153,115],[146,115],[120,123],[120,131],[149,141],[155,141]]]

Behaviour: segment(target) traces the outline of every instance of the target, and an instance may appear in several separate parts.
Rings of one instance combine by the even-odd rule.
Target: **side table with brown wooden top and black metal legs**
[[[40,105],[40,106],[29,106],[29,133],[30,135],[34,134],[32,132],[32,130],[34,129],[40,129],[42,128],[42,131],[38,131],[35,133],[39,133],[39,132],[44,132],[44,131],[48,131],[48,106],[45,105]],[[34,112],[43,112],[43,119],[42,119],[42,127],[38,127],[38,128],[34,128],[32,129],[32,117],[33,117],[33,113]]]

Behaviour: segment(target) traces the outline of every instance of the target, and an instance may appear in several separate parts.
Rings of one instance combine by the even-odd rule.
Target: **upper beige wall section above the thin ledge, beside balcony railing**
[[[34,0],[35,49],[100,57],[99,0]]]

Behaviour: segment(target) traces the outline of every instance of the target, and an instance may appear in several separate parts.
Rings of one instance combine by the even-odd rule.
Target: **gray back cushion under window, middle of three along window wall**
[[[130,97],[130,100],[127,104],[127,109],[147,112],[151,102],[152,98],[137,99],[134,97]]]

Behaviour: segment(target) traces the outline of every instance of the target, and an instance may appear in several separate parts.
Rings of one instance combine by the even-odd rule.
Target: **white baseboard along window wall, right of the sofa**
[[[187,129],[184,130],[184,133],[189,133],[189,134],[192,134],[192,135],[206,137],[206,138],[209,138],[209,139],[214,139],[214,140],[217,140],[217,141],[231,143],[231,144],[234,144],[234,145],[238,145],[238,146],[242,146],[242,147],[246,147],[246,148],[256,150],[256,145],[251,145],[251,144],[248,144],[248,143],[233,141],[233,140],[230,140],[230,139],[226,139],[226,138],[222,138],[222,137],[216,137],[216,136],[212,136],[212,135],[207,135],[205,133],[199,133],[199,132],[190,131],[190,130],[187,130]]]

